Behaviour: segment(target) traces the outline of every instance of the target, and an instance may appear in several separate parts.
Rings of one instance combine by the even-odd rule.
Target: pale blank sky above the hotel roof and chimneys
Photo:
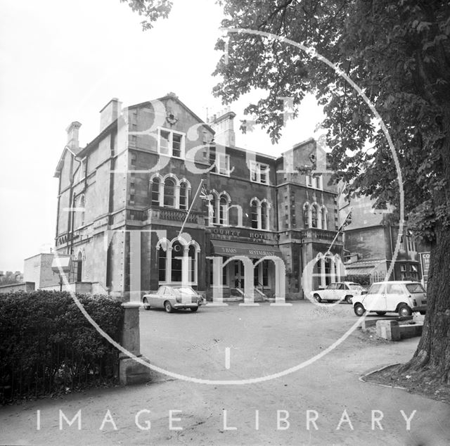
[[[23,271],[54,245],[53,175],[70,122],[82,123],[85,146],[114,97],[131,106],[173,91],[203,120],[224,108],[211,93],[221,18],[212,0],[174,0],[169,18],[143,32],[119,0],[0,0],[0,271]],[[236,145],[271,155],[314,136],[323,116],[306,98],[273,146],[264,130],[240,134],[247,103],[231,104]]]

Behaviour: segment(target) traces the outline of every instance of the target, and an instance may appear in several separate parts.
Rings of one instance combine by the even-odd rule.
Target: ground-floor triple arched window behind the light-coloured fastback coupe
[[[184,238],[176,237],[172,241],[164,238],[158,241],[156,251],[160,283],[197,284],[200,246],[196,241],[187,243]]]

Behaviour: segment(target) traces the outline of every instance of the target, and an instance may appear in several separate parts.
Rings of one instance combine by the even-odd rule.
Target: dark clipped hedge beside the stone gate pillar
[[[77,295],[92,319],[120,341],[124,309],[104,295]],[[0,402],[67,393],[117,381],[118,352],[70,293],[0,295]]]

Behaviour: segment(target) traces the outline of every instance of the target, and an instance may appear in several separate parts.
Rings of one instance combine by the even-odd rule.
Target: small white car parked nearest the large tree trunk
[[[409,316],[413,311],[425,314],[427,293],[419,282],[375,282],[367,294],[355,296],[353,310],[356,316],[362,316],[366,311],[380,316],[387,312],[398,312],[400,316]]]

